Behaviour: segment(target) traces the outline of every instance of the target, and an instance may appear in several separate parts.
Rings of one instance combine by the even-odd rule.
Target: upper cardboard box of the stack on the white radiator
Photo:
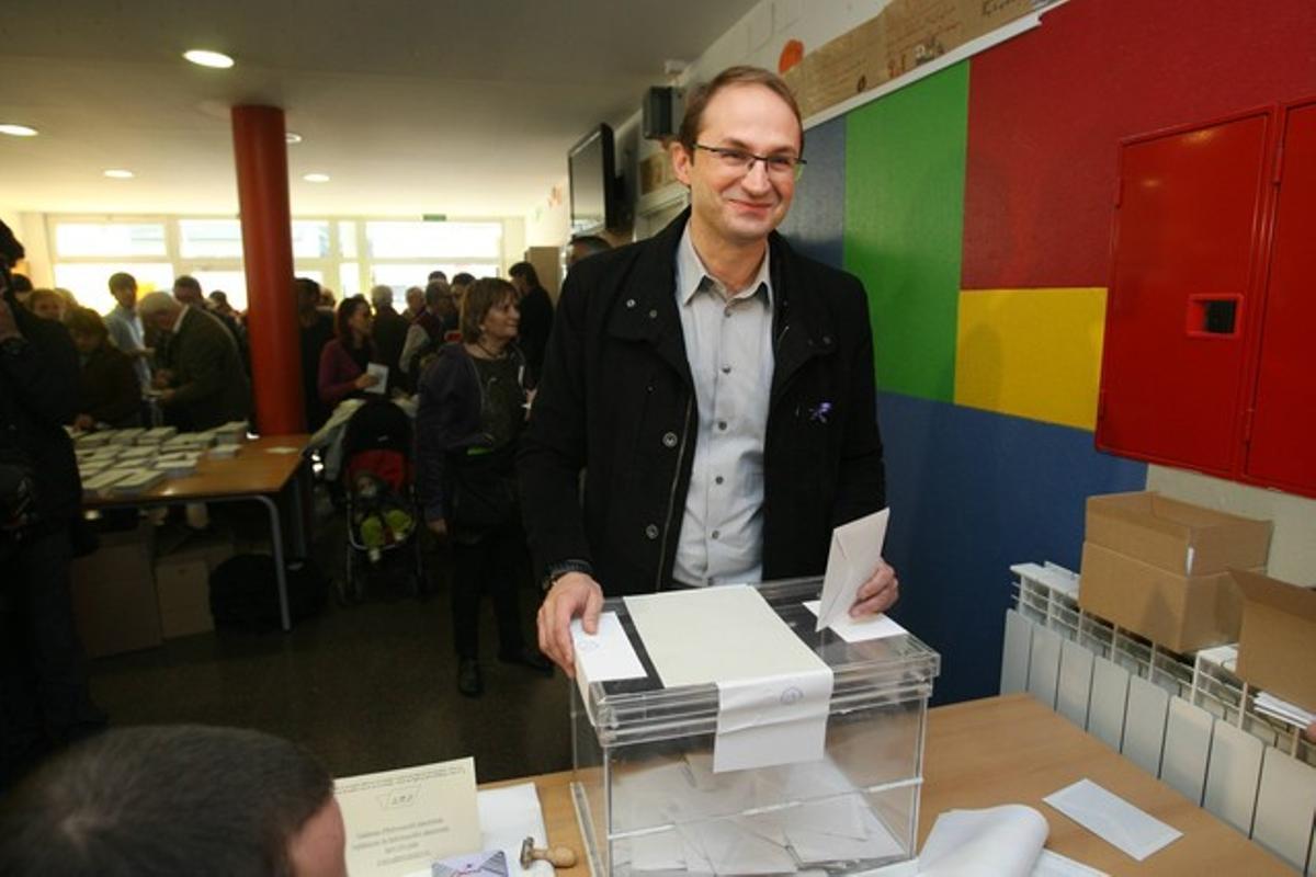
[[[1265,567],[1270,530],[1270,521],[1142,490],[1088,497],[1083,538],[1182,576],[1200,576]]]

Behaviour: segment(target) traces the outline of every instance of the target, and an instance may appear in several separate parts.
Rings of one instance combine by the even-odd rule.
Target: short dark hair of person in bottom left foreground
[[[107,731],[0,803],[0,872],[286,876],[288,844],[333,795],[324,767],[261,731]]]

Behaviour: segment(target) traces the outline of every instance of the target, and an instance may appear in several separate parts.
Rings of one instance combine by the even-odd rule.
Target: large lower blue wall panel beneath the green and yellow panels
[[[882,393],[892,617],[942,655],[934,702],[995,694],[1011,564],[1078,569],[1083,501],[1141,490],[1146,465],[1099,454],[1092,434]]]

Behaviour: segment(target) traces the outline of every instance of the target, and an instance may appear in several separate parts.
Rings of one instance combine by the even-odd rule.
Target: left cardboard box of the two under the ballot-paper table
[[[153,530],[142,522],[133,530],[101,534],[93,554],[74,560],[74,618],[88,657],[161,644]]]

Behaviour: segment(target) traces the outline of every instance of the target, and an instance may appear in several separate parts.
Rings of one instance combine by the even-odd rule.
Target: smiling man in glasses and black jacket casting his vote
[[[671,147],[691,209],[567,276],[520,473],[540,648],[569,673],[604,589],[820,575],[832,529],[884,505],[863,287],[774,231],[803,141],[778,76],[719,74]],[[896,588],[880,564],[850,613]]]

